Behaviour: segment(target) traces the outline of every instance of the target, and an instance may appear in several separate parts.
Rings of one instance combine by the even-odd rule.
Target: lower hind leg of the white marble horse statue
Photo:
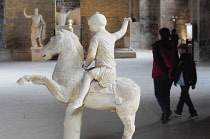
[[[124,133],[122,139],[132,139],[135,132],[135,116],[136,114],[127,114],[126,112],[117,112],[124,124]]]

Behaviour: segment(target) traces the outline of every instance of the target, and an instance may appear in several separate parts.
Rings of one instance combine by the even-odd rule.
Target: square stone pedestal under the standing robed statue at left
[[[31,47],[31,60],[32,61],[44,61],[42,57],[42,49],[44,47]]]

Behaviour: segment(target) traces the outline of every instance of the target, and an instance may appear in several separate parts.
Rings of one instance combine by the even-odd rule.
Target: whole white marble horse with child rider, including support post
[[[17,81],[21,85],[26,82],[45,85],[58,101],[66,104],[63,139],[80,138],[83,107],[116,112],[124,124],[122,139],[132,139],[140,87],[131,79],[116,78],[114,60],[115,41],[124,36],[129,21],[130,18],[125,18],[122,28],[111,34],[105,30],[105,16],[93,15],[88,24],[95,35],[85,63],[78,37],[67,30],[58,31],[43,49],[45,60],[59,54],[52,79],[26,75]],[[94,59],[95,67],[87,69]]]

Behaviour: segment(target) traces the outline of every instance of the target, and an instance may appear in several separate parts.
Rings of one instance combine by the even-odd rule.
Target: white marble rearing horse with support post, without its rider
[[[78,96],[80,85],[85,74],[83,47],[78,37],[70,31],[61,30],[43,49],[43,58],[51,59],[59,54],[52,78],[44,75],[26,75],[17,83],[20,85],[32,82],[45,85],[50,93],[60,102],[66,104],[63,139],[79,139],[83,108],[110,110],[116,112],[124,124],[123,139],[132,139],[135,132],[135,116],[140,102],[140,87],[131,79],[117,77],[107,88],[92,81],[84,105],[72,108]]]

